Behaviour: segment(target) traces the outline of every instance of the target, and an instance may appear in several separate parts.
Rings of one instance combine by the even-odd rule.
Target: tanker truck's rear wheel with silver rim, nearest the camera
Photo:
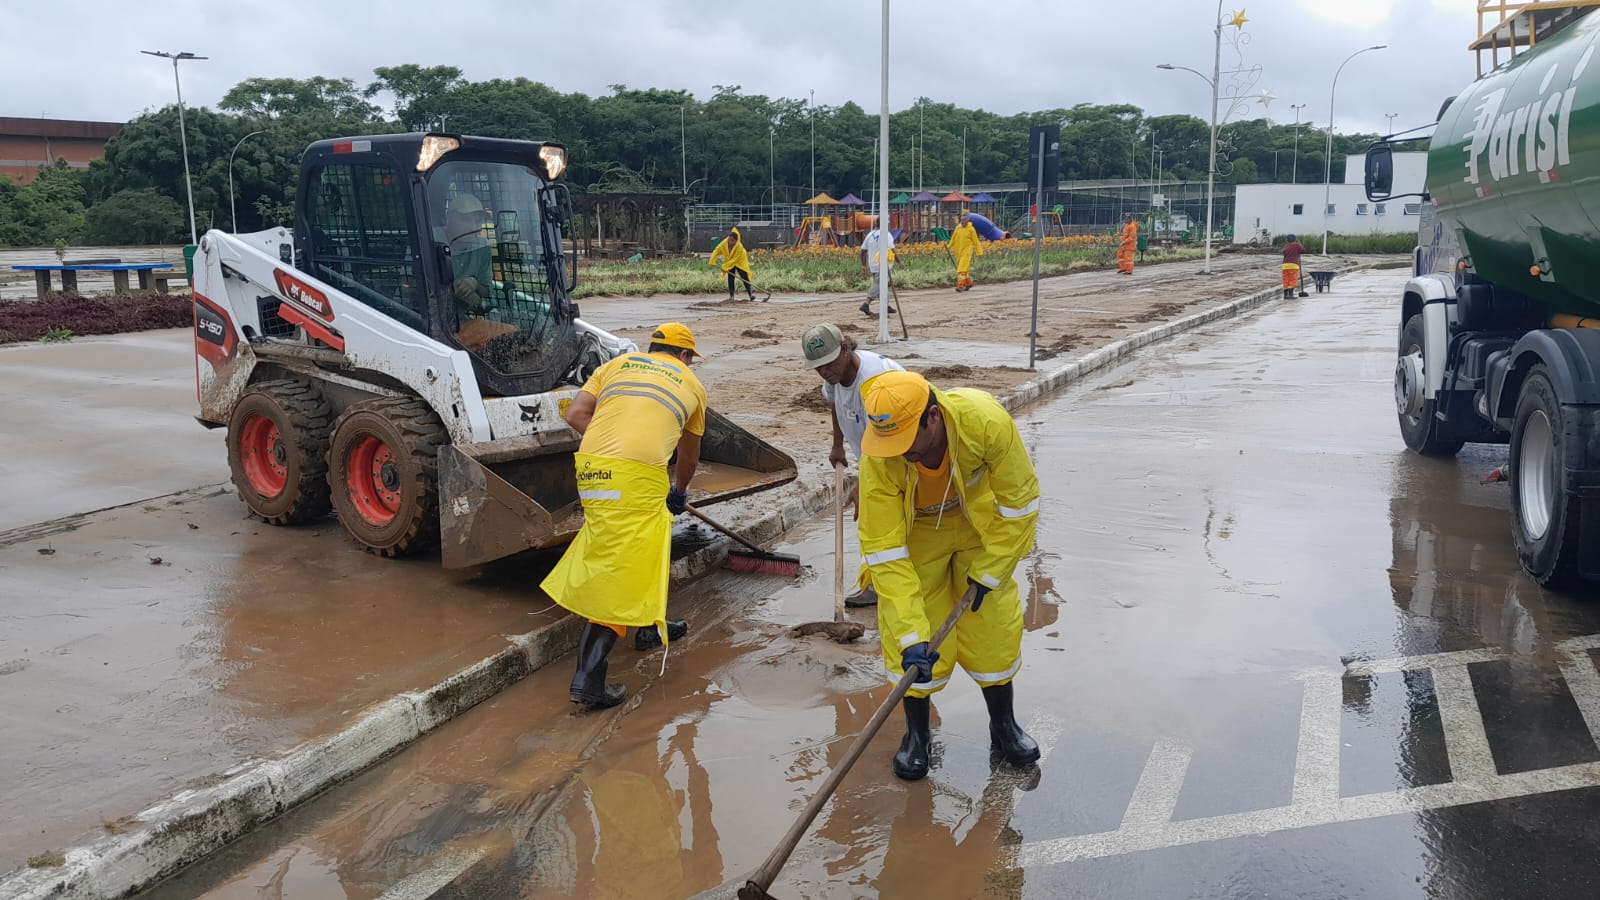
[[[1510,431],[1510,530],[1523,570],[1546,588],[1578,577],[1578,500],[1566,492],[1562,404],[1544,365],[1517,397]]]

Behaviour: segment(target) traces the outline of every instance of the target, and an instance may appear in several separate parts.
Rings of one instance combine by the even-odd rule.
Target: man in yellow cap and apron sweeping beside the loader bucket
[[[672,517],[683,512],[706,434],[706,388],[690,372],[694,335],[667,322],[650,351],[600,367],[566,410],[584,436],[574,455],[584,527],[544,580],[544,593],[589,621],[578,639],[573,703],[616,706],[627,697],[606,684],[606,655],[635,626],[648,650],[688,634],[667,620]],[[677,450],[674,482],[667,460]]]

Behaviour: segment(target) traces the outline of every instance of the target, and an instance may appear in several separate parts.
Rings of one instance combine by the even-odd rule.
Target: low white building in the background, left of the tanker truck
[[[1395,154],[1394,194],[1421,194],[1427,154]],[[1344,183],[1328,189],[1328,231],[1333,234],[1416,234],[1422,203],[1418,197],[1373,203],[1366,200],[1366,154],[1344,162]],[[1234,243],[1262,235],[1320,237],[1322,184],[1240,184],[1234,199]]]

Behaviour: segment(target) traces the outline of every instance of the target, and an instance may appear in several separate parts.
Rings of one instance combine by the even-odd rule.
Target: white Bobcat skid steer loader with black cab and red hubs
[[[638,348],[578,317],[565,165],[552,143],[318,141],[293,231],[200,239],[197,418],[227,429],[256,516],[333,509],[370,551],[438,546],[451,569],[578,533],[563,413]],[[794,480],[795,464],[712,413],[701,472],[691,498],[709,504]]]

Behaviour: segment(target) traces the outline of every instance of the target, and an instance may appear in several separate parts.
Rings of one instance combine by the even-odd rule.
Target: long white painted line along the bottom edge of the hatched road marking
[[[1022,844],[1024,868],[1600,786],[1600,762]]]

